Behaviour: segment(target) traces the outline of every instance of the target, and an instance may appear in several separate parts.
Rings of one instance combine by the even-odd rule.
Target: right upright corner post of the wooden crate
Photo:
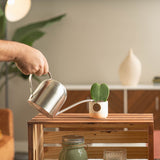
[[[154,160],[154,145],[153,145],[153,129],[154,125],[150,124],[148,128],[148,135],[149,135],[149,140],[148,140],[148,154],[149,154],[149,160]]]

